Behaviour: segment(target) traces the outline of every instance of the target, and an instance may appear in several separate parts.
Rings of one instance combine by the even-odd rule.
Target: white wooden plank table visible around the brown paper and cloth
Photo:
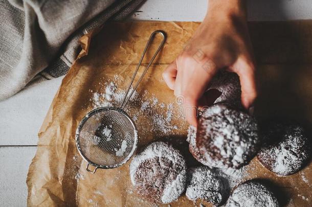
[[[147,0],[131,20],[201,21],[207,0]],[[249,20],[312,19],[310,0],[250,0]],[[28,167],[37,132],[63,77],[26,88],[0,102],[0,206],[26,206]]]

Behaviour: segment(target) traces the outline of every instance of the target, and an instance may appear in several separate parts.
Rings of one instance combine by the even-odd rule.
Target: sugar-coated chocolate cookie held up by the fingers
[[[199,118],[196,145],[210,167],[238,169],[260,147],[256,120],[225,104],[214,104]]]

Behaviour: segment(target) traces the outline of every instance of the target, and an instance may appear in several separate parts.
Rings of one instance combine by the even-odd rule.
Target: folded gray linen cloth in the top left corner
[[[123,19],[142,1],[0,0],[0,100],[31,80],[64,75],[83,34]]]

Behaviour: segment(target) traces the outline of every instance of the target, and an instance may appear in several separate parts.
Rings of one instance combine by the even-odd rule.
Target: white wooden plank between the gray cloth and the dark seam
[[[37,133],[62,78],[33,84],[0,102],[0,146],[37,145]]]

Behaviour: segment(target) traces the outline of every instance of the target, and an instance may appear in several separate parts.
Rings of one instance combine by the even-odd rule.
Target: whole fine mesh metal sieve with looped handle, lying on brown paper
[[[156,34],[161,34],[163,40],[128,95],[145,53]],[[88,163],[86,166],[88,172],[95,173],[98,168],[119,167],[125,164],[136,151],[138,144],[137,127],[123,109],[163,47],[165,40],[166,36],[163,31],[154,31],[150,35],[119,108],[101,107],[94,109],[88,112],[80,122],[76,131],[76,146],[80,155]],[[95,167],[93,171],[88,169],[90,165]]]

